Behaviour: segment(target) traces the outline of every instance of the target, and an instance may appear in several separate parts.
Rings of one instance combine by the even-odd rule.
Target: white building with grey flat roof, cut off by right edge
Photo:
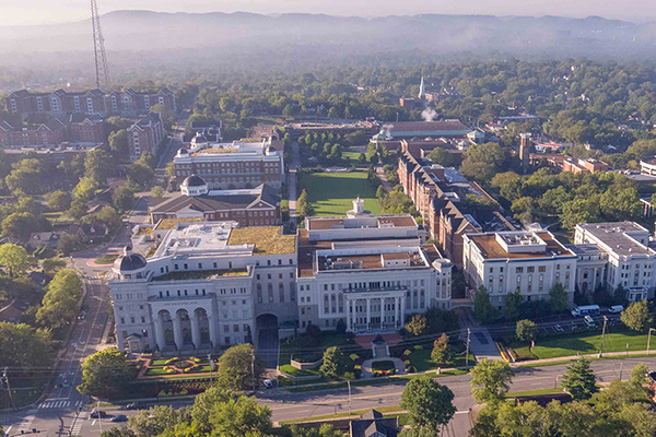
[[[605,282],[609,292],[622,285],[631,302],[654,296],[656,251],[648,247],[649,232],[637,223],[578,224],[574,244],[596,245],[605,252]]]

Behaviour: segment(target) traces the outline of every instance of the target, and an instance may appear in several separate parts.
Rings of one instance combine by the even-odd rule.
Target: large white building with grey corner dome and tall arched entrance
[[[262,328],[293,333],[295,237],[236,225],[177,223],[148,260],[126,248],[108,282],[121,349],[209,352],[257,343]]]

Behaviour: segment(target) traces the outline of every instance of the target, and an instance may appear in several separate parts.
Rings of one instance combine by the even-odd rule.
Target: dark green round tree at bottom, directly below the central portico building
[[[454,392],[427,376],[412,379],[401,394],[401,404],[414,426],[436,432],[456,414]]]

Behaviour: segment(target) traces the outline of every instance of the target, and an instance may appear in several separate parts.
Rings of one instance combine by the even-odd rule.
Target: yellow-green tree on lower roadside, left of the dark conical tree
[[[483,358],[471,369],[471,395],[479,403],[504,399],[515,371],[506,362]]]

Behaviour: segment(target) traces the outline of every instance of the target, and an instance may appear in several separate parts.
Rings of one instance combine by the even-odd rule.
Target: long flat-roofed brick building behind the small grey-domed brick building
[[[178,182],[197,175],[209,189],[255,188],[260,184],[280,189],[284,157],[268,140],[211,143],[198,133],[190,149],[180,147],[174,158]]]

